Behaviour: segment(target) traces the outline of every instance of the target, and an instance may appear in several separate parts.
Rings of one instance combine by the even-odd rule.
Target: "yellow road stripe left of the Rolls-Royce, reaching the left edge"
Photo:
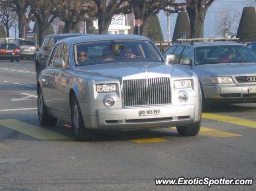
[[[0,125],[29,135],[39,140],[72,140],[70,137],[64,136],[62,134],[58,134],[44,128],[30,125],[25,122],[20,122],[15,119],[0,120]]]

